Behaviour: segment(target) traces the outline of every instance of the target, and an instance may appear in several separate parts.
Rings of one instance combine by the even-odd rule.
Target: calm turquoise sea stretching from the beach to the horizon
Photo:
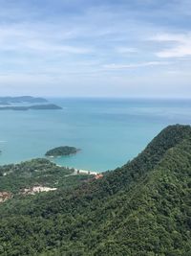
[[[82,151],[55,162],[106,171],[125,164],[159,131],[191,124],[191,101],[51,99],[62,110],[0,111],[0,164],[15,163],[57,146]]]

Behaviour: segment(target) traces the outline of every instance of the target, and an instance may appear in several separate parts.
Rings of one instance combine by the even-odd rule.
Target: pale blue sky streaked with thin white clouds
[[[0,96],[191,98],[190,0],[0,0]]]

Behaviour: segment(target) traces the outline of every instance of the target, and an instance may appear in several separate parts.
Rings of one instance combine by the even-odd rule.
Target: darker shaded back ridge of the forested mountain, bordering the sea
[[[107,182],[116,187],[113,188],[115,191],[121,189],[123,185],[125,187],[131,185],[131,182],[137,181],[139,177],[152,170],[166,151],[178,145],[183,139],[190,137],[190,126],[176,125],[164,128],[136,158],[109,173]]]

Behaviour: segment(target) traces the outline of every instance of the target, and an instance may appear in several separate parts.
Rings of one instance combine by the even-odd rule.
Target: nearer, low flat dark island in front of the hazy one
[[[48,104],[48,105],[29,105],[29,106],[22,106],[22,105],[9,105],[9,106],[0,106],[0,110],[55,110],[55,109],[62,109],[59,105]]]

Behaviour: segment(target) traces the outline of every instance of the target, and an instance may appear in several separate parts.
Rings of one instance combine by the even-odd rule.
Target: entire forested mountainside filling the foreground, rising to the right
[[[73,191],[0,205],[0,255],[191,255],[191,128]]]

